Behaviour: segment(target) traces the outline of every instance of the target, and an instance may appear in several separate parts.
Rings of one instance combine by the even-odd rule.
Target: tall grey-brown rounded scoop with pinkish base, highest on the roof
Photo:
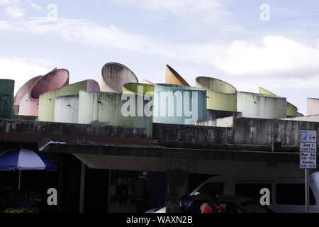
[[[101,92],[121,93],[127,83],[138,83],[138,77],[128,67],[116,62],[103,66]]]

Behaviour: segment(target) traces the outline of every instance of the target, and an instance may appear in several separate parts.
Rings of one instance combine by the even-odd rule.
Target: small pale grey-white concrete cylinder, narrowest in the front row
[[[55,122],[79,123],[79,94],[55,98]]]

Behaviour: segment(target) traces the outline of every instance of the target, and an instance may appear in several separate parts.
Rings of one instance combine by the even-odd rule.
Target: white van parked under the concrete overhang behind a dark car
[[[310,175],[310,213],[319,213],[319,172]],[[207,201],[211,190],[218,194],[250,196],[256,201],[262,197],[261,189],[267,188],[271,194],[269,209],[275,213],[305,212],[305,180],[265,177],[216,176],[207,179],[191,192],[195,206]]]

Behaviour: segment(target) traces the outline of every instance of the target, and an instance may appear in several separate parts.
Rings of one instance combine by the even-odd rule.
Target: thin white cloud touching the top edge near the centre
[[[169,11],[177,16],[200,16],[214,21],[228,14],[221,0],[113,0],[120,4],[153,11]]]

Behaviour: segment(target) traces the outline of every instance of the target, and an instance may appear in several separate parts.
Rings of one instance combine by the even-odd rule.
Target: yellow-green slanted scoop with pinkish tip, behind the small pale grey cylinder
[[[52,122],[55,119],[55,98],[58,96],[67,96],[79,94],[79,91],[99,92],[99,83],[93,79],[84,80],[75,84],[66,85],[51,92],[45,92],[39,98],[38,121]],[[62,110],[57,110],[62,111]]]

